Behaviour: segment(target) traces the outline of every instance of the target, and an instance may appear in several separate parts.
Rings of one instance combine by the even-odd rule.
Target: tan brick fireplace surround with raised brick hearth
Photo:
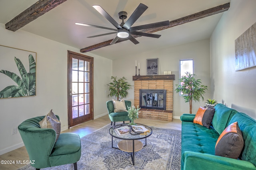
[[[173,80],[175,75],[132,76],[134,81],[134,106],[140,107],[140,89],[165,89],[166,110],[140,109],[139,118],[172,121]]]

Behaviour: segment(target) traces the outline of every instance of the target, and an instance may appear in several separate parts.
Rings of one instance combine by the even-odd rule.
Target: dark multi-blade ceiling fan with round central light
[[[139,42],[132,35],[159,38],[161,35],[146,33],[146,32],[142,32],[140,30],[168,26],[170,24],[169,21],[161,21],[161,22],[150,23],[150,24],[146,24],[146,25],[139,25],[139,26],[132,27],[134,22],[136,20],[138,20],[138,18],[140,18],[140,16],[148,8],[148,6],[146,6],[144,4],[139,4],[139,6],[134,10],[134,12],[130,16],[130,18],[128,18],[128,20],[125,23],[124,23],[124,20],[127,18],[127,12],[125,12],[125,11],[119,12],[118,16],[122,20],[121,24],[118,24],[101,6],[93,5],[93,8],[95,8],[102,16],[104,16],[108,21],[110,21],[110,23],[112,23],[116,27],[116,29],[108,28],[108,27],[101,27],[101,26],[97,26],[97,25],[90,25],[90,24],[85,24],[85,23],[78,23],[78,22],[76,22],[76,25],[83,25],[83,26],[88,26],[88,27],[96,27],[96,28],[102,28],[102,29],[108,29],[108,30],[115,31],[115,32],[104,33],[104,34],[100,34],[100,35],[94,35],[94,36],[87,37],[87,38],[93,38],[93,37],[100,37],[103,35],[110,35],[110,34],[117,33],[116,37],[112,40],[110,45],[116,43],[116,41],[118,41],[119,39],[129,39],[130,41],[132,41],[132,43],[138,44]]]

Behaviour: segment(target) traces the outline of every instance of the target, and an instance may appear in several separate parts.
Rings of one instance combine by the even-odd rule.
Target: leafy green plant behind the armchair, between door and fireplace
[[[116,99],[125,98],[128,95],[128,90],[130,89],[130,84],[126,82],[126,78],[122,77],[116,80],[116,77],[111,77],[112,82],[108,83],[110,94],[108,97],[116,96]]]

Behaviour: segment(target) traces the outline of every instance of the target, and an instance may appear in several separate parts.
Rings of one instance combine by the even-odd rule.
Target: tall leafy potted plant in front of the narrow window
[[[176,93],[185,99],[185,102],[189,102],[189,113],[192,114],[192,101],[199,102],[200,98],[204,100],[204,93],[207,90],[207,86],[200,85],[202,82],[200,79],[195,78],[196,74],[185,73],[179,80],[180,84],[176,84]]]

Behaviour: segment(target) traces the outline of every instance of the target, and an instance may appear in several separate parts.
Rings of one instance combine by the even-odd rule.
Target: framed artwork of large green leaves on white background
[[[36,95],[36,53],[0,45],[0,98]]]

